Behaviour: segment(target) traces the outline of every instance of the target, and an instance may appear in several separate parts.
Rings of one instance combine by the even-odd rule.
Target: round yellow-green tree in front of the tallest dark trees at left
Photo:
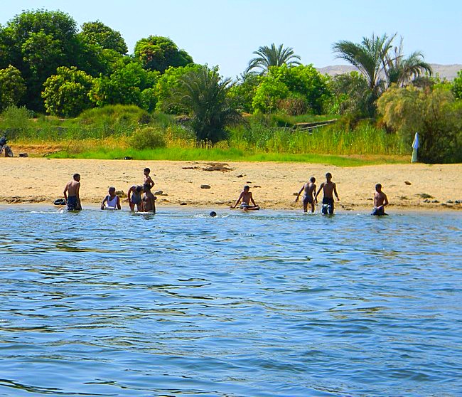
[[[75,117],[93,106],[89,93],[93,78],[75,66],[61,66],[43,83],[42,97],[50,115]]]

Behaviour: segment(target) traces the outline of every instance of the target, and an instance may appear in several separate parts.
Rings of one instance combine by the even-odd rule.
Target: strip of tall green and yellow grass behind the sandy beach
[[[227,140],[215,145],[196,142],[187,125],[176,122],[171,115],[149,114],[135,106],[114,105],[87,110],[74,119],[29,117],[24,108],[4,111],[0,115],[0,134],[3,130],[13,142],[59,143],[65,148],[60,157],[240,160],[250,156],[255,161],[311,162],[314,154],[409,154],[397,134],[389,134],[370,122],[361,122],[353,130],[342,123],[311,131],[279,127],[301,121],[331,120],[328,115],[248,116],[244,123],[229,129]],[[159,149],[151,150],[154,147]]]

